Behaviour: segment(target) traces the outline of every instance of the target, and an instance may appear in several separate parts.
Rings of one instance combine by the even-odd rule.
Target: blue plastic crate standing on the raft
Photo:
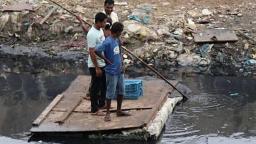
[[[143,81],[141,79],[125,79],[124,83],[124,99],[139,99],[143,96]]]

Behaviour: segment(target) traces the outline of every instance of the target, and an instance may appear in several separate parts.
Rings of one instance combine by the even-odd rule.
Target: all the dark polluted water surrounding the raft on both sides
[[[0,144],[28,143],[33,120],[76,76],[0,74]],[[175,108],[157,141],[42,138],[30,143],[256,143],[256,79],[205,75],[179,79],[193,92]]]

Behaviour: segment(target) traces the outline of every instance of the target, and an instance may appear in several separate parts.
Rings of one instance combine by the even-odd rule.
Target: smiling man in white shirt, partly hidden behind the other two
[[[112,24],[114,24],[115,22],[118,22],[118,16],[115,12],[113,12],[114,6],[115,6],[114,0],[105,0],[103,13],[105,13],[106,15],[108,15],[108,17],[112,19]]]

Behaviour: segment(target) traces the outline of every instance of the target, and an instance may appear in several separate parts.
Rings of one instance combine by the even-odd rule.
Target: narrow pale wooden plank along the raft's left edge
[[[38,118],[36,118],[36,120],[33,122],[33,125],[35,125],[35,126],[40,125],[42,123],[42,121],[44,120],[45,116],[47,116],[48,113],[50,113],[52,108],[54,108],[54,106],[56,106],[56,104],[58,104],[58,102],[60,102],[62,97],[63,97],[63,94],[57,95],[57,97],[55,97],[55,99],[52,100],[51,104],[49,104],[49,106],[47,106],[47,108],[44,109],[44,111],[38,116]]]

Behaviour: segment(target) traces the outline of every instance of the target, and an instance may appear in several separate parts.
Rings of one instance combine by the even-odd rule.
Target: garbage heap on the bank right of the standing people
[[[256,74],[256,33],[228,23],[234,19],[235,23],[239,22],[243,11],[235,8],[233,12],[228,6],[220,6],[220,10],[213,11],[195,8],[186,13],[180,11],[178,15],[183,14],[184,17],[165,24],[159,24],[160,19],[156,18],[154,12],[148,12],[148,15],[152,15],[151,23],[134,19],[133,13],[129,20],[124,21],[124,42],[148,65],[193,66],[201,72],[205,70],[202,67],[236,67],[236,72],[244,76]],[[252,20],[256,24],[256,19]],[[133,46],[141,42],[141,47]],[[140,65],[132,56],[127,59],[125,61],[129,63],[126,65]],[[211,74],[209,71],[206,73]]]

